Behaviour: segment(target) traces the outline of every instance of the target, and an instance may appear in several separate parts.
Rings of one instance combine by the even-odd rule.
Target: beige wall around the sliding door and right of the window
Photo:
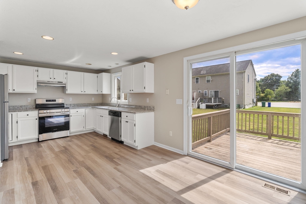
[[[155,142],[183,150],[183,105],[176,104],[176,99],[183,98],[184,57],[304,30],[306,30],[306,17],[301,17],[292,21],[140,61],[154,63],[154,93],[130,94],[132,102],[129,104],[155,106]],[[107,70],[107,72],[116,73],[121,71],[121,68],[116,67]],[[166,89],[169,89],[169,95],[166,95]],[[102,102],[108,102],[109,97],[110,94],[103,94]],[[146,102],[146,98],[149,98],[149,103]],[[169,136],[169,130],[172,131],[172,137]]]

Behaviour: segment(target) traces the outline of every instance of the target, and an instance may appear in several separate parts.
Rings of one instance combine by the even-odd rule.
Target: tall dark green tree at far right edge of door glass
[[[287,98],[289,100],[300,100],[301,98],[301,70],[296,69],[292,72],[292,74],[288,77],[286,81],[286,86],[291,89],[287,93]]]

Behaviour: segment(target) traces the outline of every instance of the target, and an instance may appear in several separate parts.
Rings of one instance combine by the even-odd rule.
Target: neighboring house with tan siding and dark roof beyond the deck
[[[255,106],[256,73],[252,60],[236,62],[236,104]],[[192,100],[199,97],[224,98],[230,104],[230,63],[192,69]]]

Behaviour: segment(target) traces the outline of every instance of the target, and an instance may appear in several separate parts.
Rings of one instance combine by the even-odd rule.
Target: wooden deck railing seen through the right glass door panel
[[[236,110],[236,131],[301,140],[301,114]]]

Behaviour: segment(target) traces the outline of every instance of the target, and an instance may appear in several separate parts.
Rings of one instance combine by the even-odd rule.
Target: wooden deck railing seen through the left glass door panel
[[[230,130],[230,109],[192,115],[192,146]]]

